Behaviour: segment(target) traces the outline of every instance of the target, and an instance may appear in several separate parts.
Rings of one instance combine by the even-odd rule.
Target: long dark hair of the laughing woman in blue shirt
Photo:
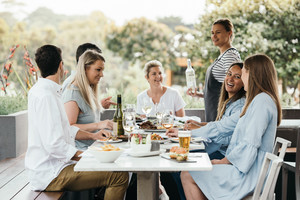
[[[239,66],[241,69],[243,68],[243,63],[238,62],[238,63],[233,63],[232,65],[230,65],[230,67],[228,68],[228,71],[233,67],[233,66]],[[220,97],[219,97],[219,103],[218,103],[218,114],[217,114],[217,118],[216,121],[220,120],[222,118],[222,116],[225,113],[226,110],[226,105],[229,101],[231,102],[235,102],[236,100],[245,97],[245,90],[244,87],[242,87],[237,93],[235,93],[235,95],[233,95],[231,98],[229,98],[228,96],[228,92],[225,89],[225,80],[222,84],[221,87],[221,93],[220,93]]]

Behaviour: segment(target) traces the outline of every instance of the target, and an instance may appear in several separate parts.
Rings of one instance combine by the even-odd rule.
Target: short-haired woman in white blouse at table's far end
[[[145,114],[143,106],[147,102],[152,107],[149,113],[150,116],[155,116],[157,111],[155,108],[158,108],[161,112],[168,110],[178,117],[183,117],[186,103],[177,90],[162,84],[162,64],[157,60],[151,60],[145,64],[144,73],[150,88],[137,96],[137,113]]]

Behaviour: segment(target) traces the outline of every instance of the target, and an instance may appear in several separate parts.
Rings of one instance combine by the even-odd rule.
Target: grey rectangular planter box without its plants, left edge
[[[0,115],[0,160],[15,158],[27,150],[27,111]]]

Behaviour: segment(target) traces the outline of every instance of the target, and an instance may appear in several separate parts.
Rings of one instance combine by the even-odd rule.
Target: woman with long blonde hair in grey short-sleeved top
[[[80,57],[77,73],[63,92],[65,110],[71,125],[86,131],[96,132],[99,129],[112,129],[112,121],[100,121],[101,105],[98,94],[98,83],[103,77],[104,57],[95,50],[87,50]],[[102,130],[106,135],[109,132]],[[93,140],[76,140],[76,147],[84,150]]]

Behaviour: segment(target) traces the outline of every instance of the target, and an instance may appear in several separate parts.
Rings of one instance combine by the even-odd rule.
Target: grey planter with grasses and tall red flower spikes
[[[13,58],[16,45],[10,49],[10,54],[4,61],[0,70],[0,160],[9,157],[18,157],[27,150],[28,141],[28,116],[27,116],[27,93],[36,80],[36,67],[33,66],[26,47],[24,53],[25,72],[22,76],[14,71],[23,94],[10,96],[7,87],[10,85],[8,78],[13,72],[11,59]],[[25,82],[25,84],[23,83]],[[1,95],[1,94],[0,94]]]

